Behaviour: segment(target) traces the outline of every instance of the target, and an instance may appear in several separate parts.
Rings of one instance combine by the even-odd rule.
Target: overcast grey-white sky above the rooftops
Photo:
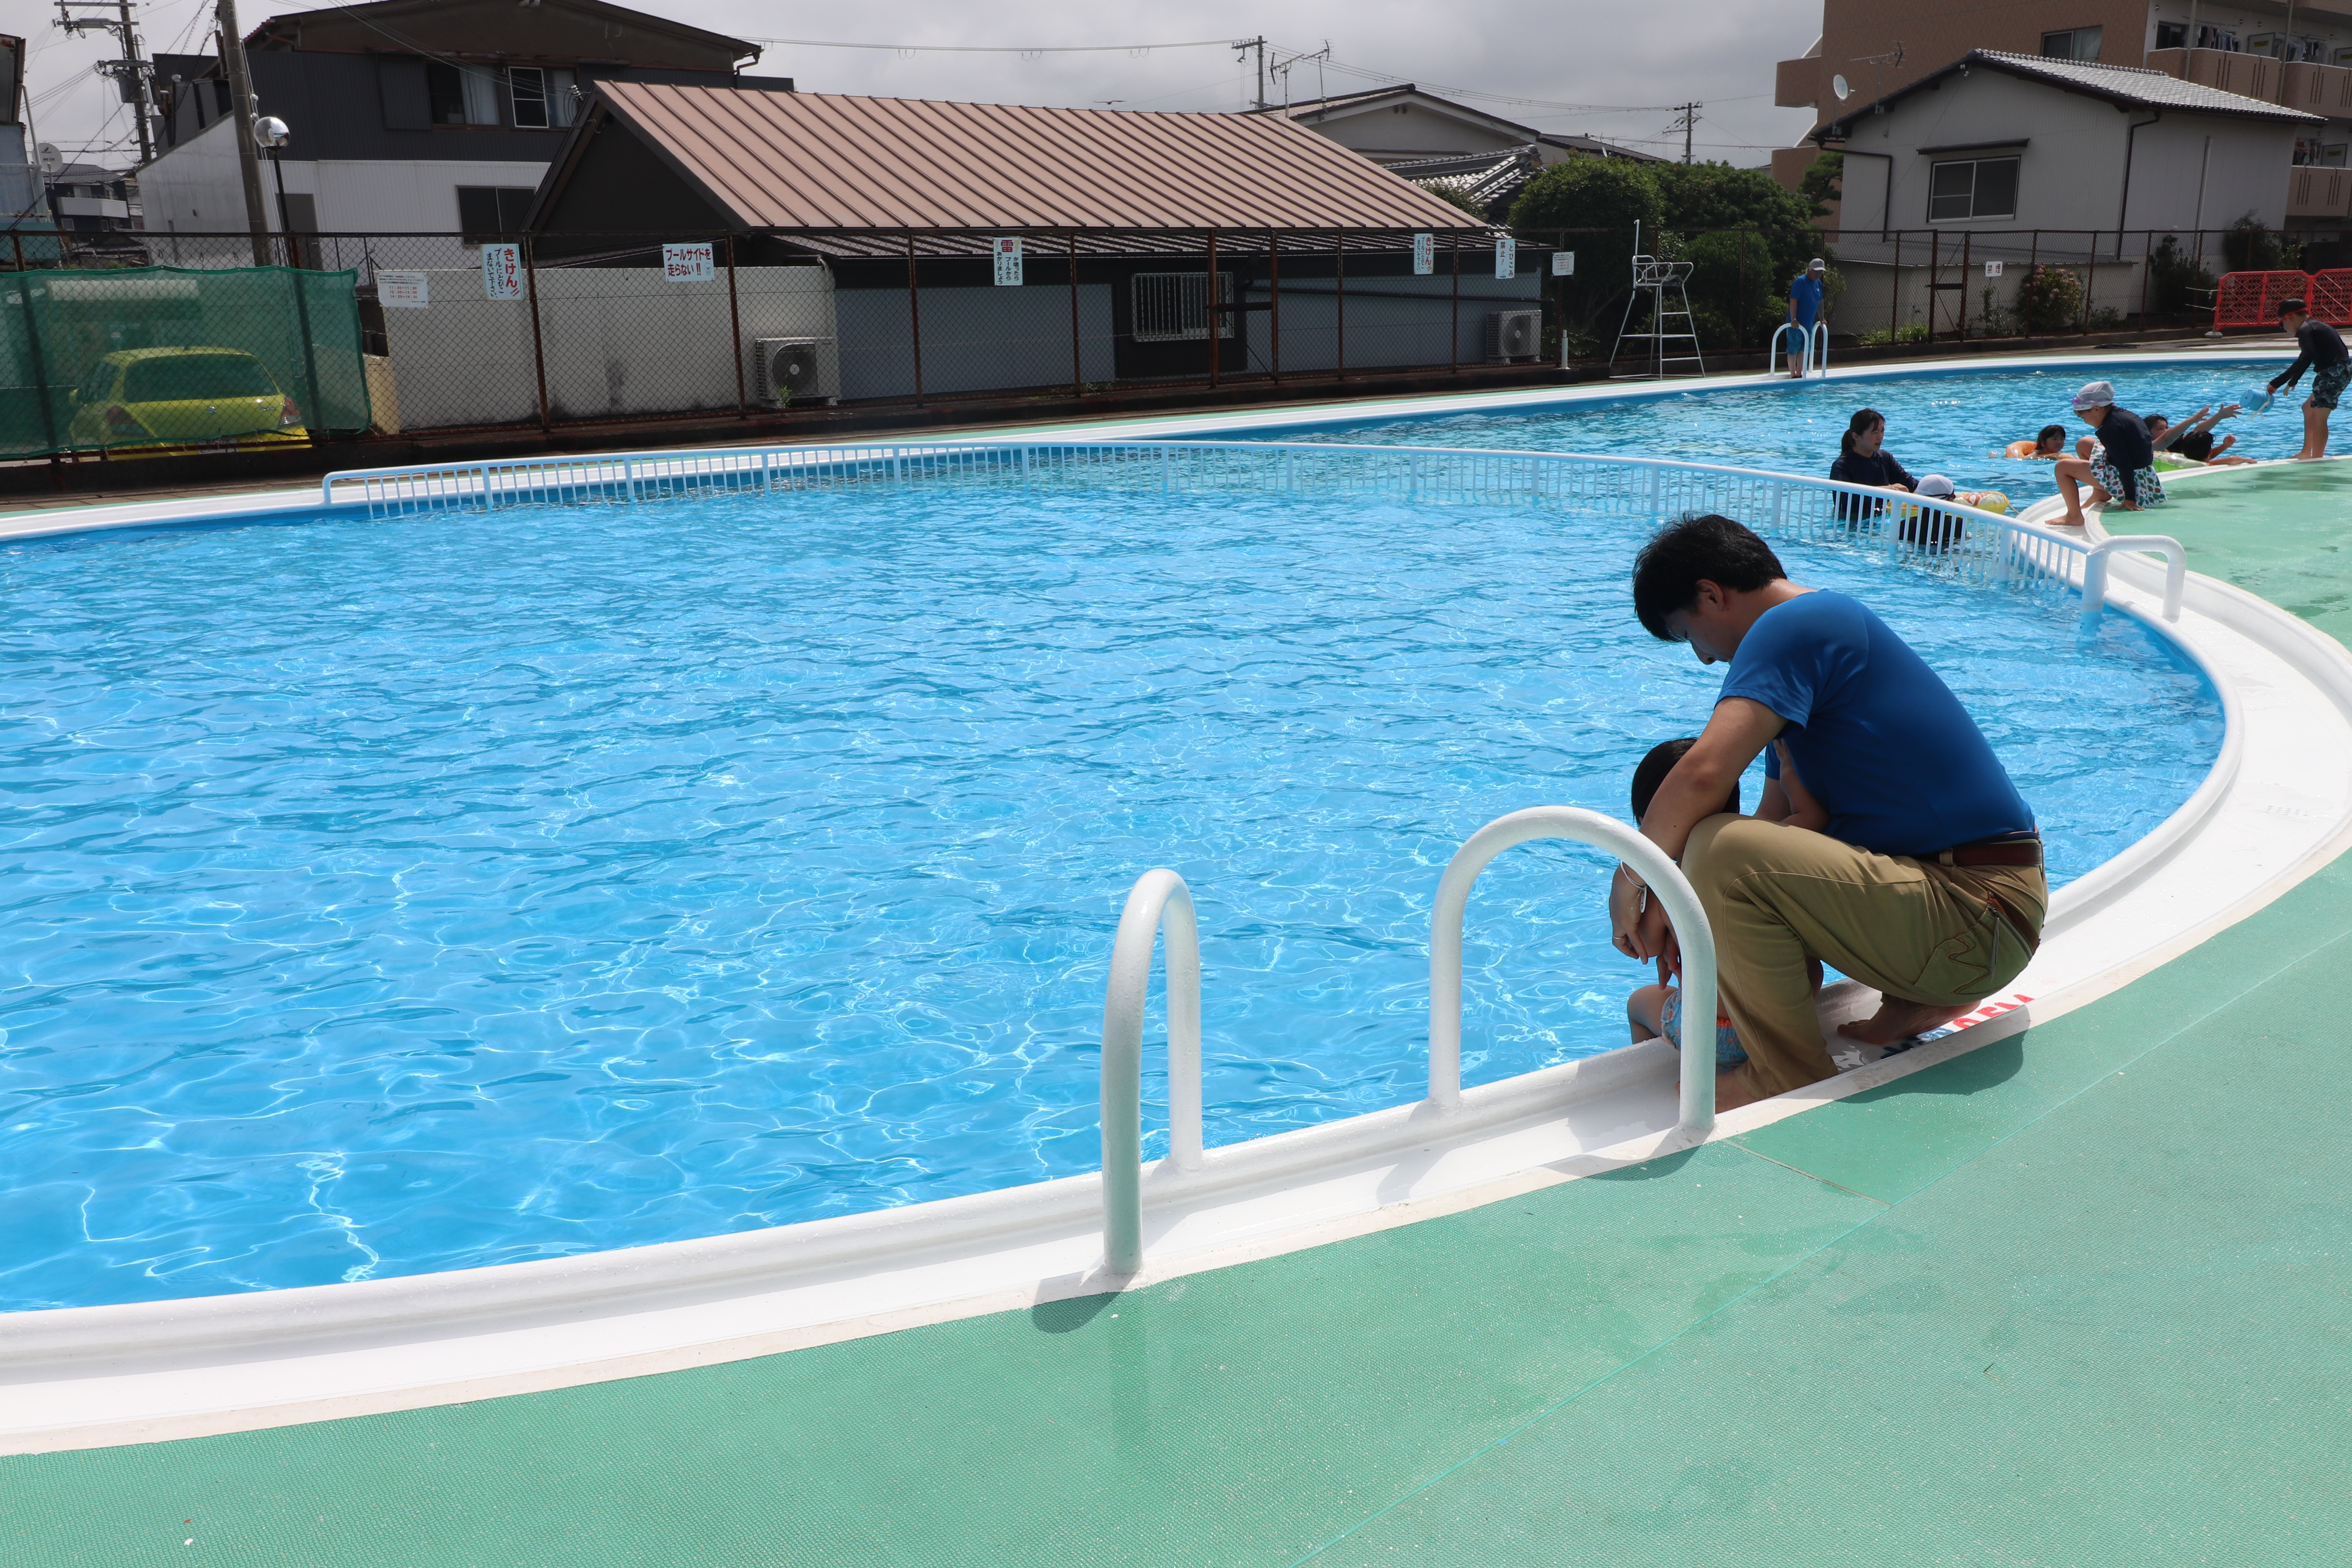
[[[129,118],[113,82],[89,66],[115,54],[111,35],[68,38],[47,26],[33,0],[9,7],[28,33],[28,87],[40,141],[68,158],[82,148],[129,148]],[[310,9],[310,7],[289,7]],[[1649,0],[1625,5],[1531,5],[1489,0],[1482,7],[1439,7],[1425,0],[1268,0],[1263,5],[1134,5],[1073,7],[1037,0],[950,5],[901,0],[894,7],[771,5],[755,0],[654,0],[640,9],[736,38],[788,35],[800,40],[875,45],[1073,47],[1178,45],[1190,40],[1270,40],[1268,61],[1322,49],[1334,66],[1317,78],[1315,61],[1289,73],[1291,99],[1355,92],[1385,78],[1425,89],[1468,89],[1479,108],[1545,132],[1606,136],[1658,153],[1682,153],[1672,103],[1700,101],[1696,153],[1755,167],[1769,150],[1811,129],[1811,110],[1773,108],[1773,61],[1804,54],[1820,31],[1818,0]],[[212,0],[155,0],[139,12],[148,52],[209,52],[205,35]],[[268,5],[245,0],[247,31]],[[1632,24],[1632,26],[1628,26]],[[866,92],[924,99],[1063,103],[1075,108],[1242,108],[1256,89],[1254,56],[1223,47],[1157,47],[1105,54],[948,54],[894,49],[818,49],[767,42],[755,68],[788,75],[807,92]],[[1345,66],[1348,71],[1341,71]],[[1371,75],[1364,75],[1371,73]],[[1270,99],[1282,99],[1277,82]],[[1519,99],[1519,101],[1503,101]],[[268,106],[263,106],[268,108]],[[122,160],[122,150],[94,162]]]

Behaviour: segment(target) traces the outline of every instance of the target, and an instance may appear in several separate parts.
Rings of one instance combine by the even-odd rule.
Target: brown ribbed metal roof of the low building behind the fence
[[[1484,228],[1275,115],[652,82],[597,94],[743,228]]]

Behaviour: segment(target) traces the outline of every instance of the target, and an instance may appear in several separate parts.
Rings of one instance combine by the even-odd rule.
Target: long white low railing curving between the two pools
[[[616,454],[332,473],[329,505],[374,517],[543,503],[644,503],[774,491],[908,484],[1101,489],[1160,494],[1310,494],[1416,505],[1573,505],[1639,522],[1722,512],[1766,538],[1860,550],[1884,564],[2013,592],[2105,595],[2093,545],[2016,517],[1804,475],[1576,451],[1355,447],[1338,442],[908,442],[880,447],[757,447],[741,451]],[[2180,545],[2157,536],[2131,550]],[[2178,581],[2176,569],[2173,581]],[[2178,592],[2166,595],[2166,616]]]

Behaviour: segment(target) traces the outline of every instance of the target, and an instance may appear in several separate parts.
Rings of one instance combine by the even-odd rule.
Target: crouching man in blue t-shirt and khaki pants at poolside
[[[2034,813],[1952,689],[1858,599],[1799,588],[1729,517],[1689,517],[1635,562],[1651,635],[1726,663],[1715,715],[1651,797],[1642,832],[1682,860],[1715,929],[1722,1009],[1748,1063],[1731,1110],[1830,1077],[1806,959],[1882,994],[1863,1044],[1933,1030],[2009,985],[2042,943],[2049,884]],[[1828,809],[1788,827],[1778,757],[1757,816],[1722,802],[1773,741]],[[1776,748],[1778,750],[1778,748]],[[1778,802],[1778,809],[1776,809]],[[1616,889],[1639,889],[1628,867]],[[1670,945],[1656,903],[1613,896],[1618,950]]]

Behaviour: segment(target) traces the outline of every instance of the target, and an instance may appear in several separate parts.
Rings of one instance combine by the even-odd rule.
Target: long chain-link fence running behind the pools
[[[1637,235],[1604,228],[294,235],[266,240],[270,268],[247,233],[113,233],[0,249],[0,456],[1637,369],[1621,341],[1661,301],[1708,355],[1766,348],[1813,252],[1846,341],[2187,327],[2223,273],[2345,249],[2249,228],[1646,230],[1642,254],[1686,263],[1663,299],[1630,287]]]

